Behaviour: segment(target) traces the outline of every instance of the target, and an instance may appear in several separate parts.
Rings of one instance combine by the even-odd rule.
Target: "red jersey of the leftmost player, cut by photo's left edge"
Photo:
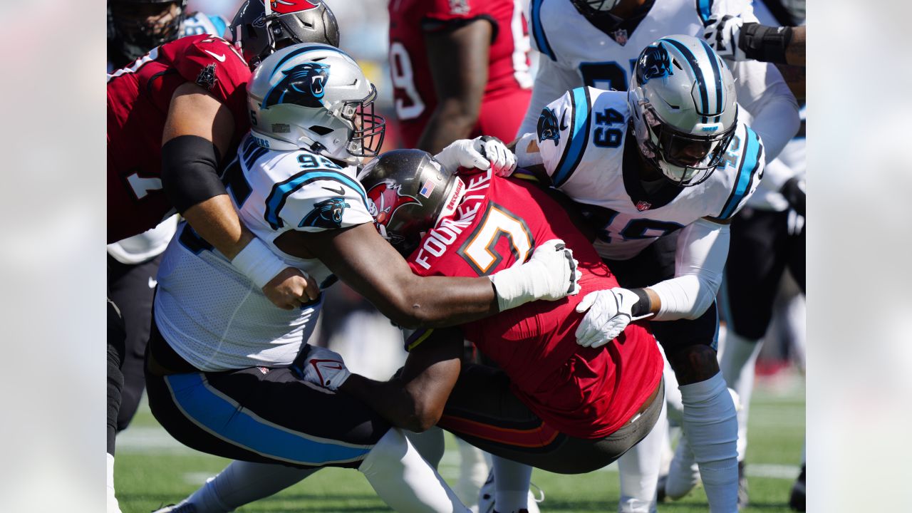
[[[233,152],[250,129],[250,76],[231,43],[206,34],[152,48],[128,68],[108,75],[109,243],[140,234],[171,213],[161,190],[161,134],[174,89],[185,82],[198,84],[231,109]]]

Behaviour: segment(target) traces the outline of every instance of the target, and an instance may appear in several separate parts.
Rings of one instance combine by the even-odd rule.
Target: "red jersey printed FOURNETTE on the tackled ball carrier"
[[[571,436],[617,431],[655,391],[662,357],[648,323],[633,323],[598,349],[576,344],[584,314],[576,305],[617,279],[560,204],[532,183],[463,177],[465,197],[409,257],[422,276],[487,276],[524,261],[534,247],[560,238],[579,261],[582,290],[559,301],[534,301],[464,325],[467,340],[510,376],[513,392],[535,414]],[[413,338],[413,340],[421,340]]]

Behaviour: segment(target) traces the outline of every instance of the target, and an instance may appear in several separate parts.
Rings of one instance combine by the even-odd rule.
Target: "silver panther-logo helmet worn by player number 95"
[[[377,88],[337,47],[304,43],[265,58],[247,85],[251,131],[274,150],[303,148],[358,164],[383,144]]]

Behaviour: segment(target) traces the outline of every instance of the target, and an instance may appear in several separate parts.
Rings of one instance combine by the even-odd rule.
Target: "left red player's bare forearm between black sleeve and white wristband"
[[[232,260],[254,238],[241,223],[227,194],[194,204],[183,213],[199,236]]]

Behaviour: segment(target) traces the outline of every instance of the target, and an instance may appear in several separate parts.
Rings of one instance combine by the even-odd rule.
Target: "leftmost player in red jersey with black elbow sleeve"
[[[241,225],[217,170],[249,129],[251,66],[293,43],[337,46],[338,27],[325,5],[306,0],[265,9],[248,0],[235,16],[232,35],[240,51],[220,37],[186,37],[109,73],[108,242],[140,234],[176,210],[277,307],[293,309],[316,298],[316,283],[286,267]],[[119,511],[112,476],[124,331],[110,301],[108,309],[108,507]]]

